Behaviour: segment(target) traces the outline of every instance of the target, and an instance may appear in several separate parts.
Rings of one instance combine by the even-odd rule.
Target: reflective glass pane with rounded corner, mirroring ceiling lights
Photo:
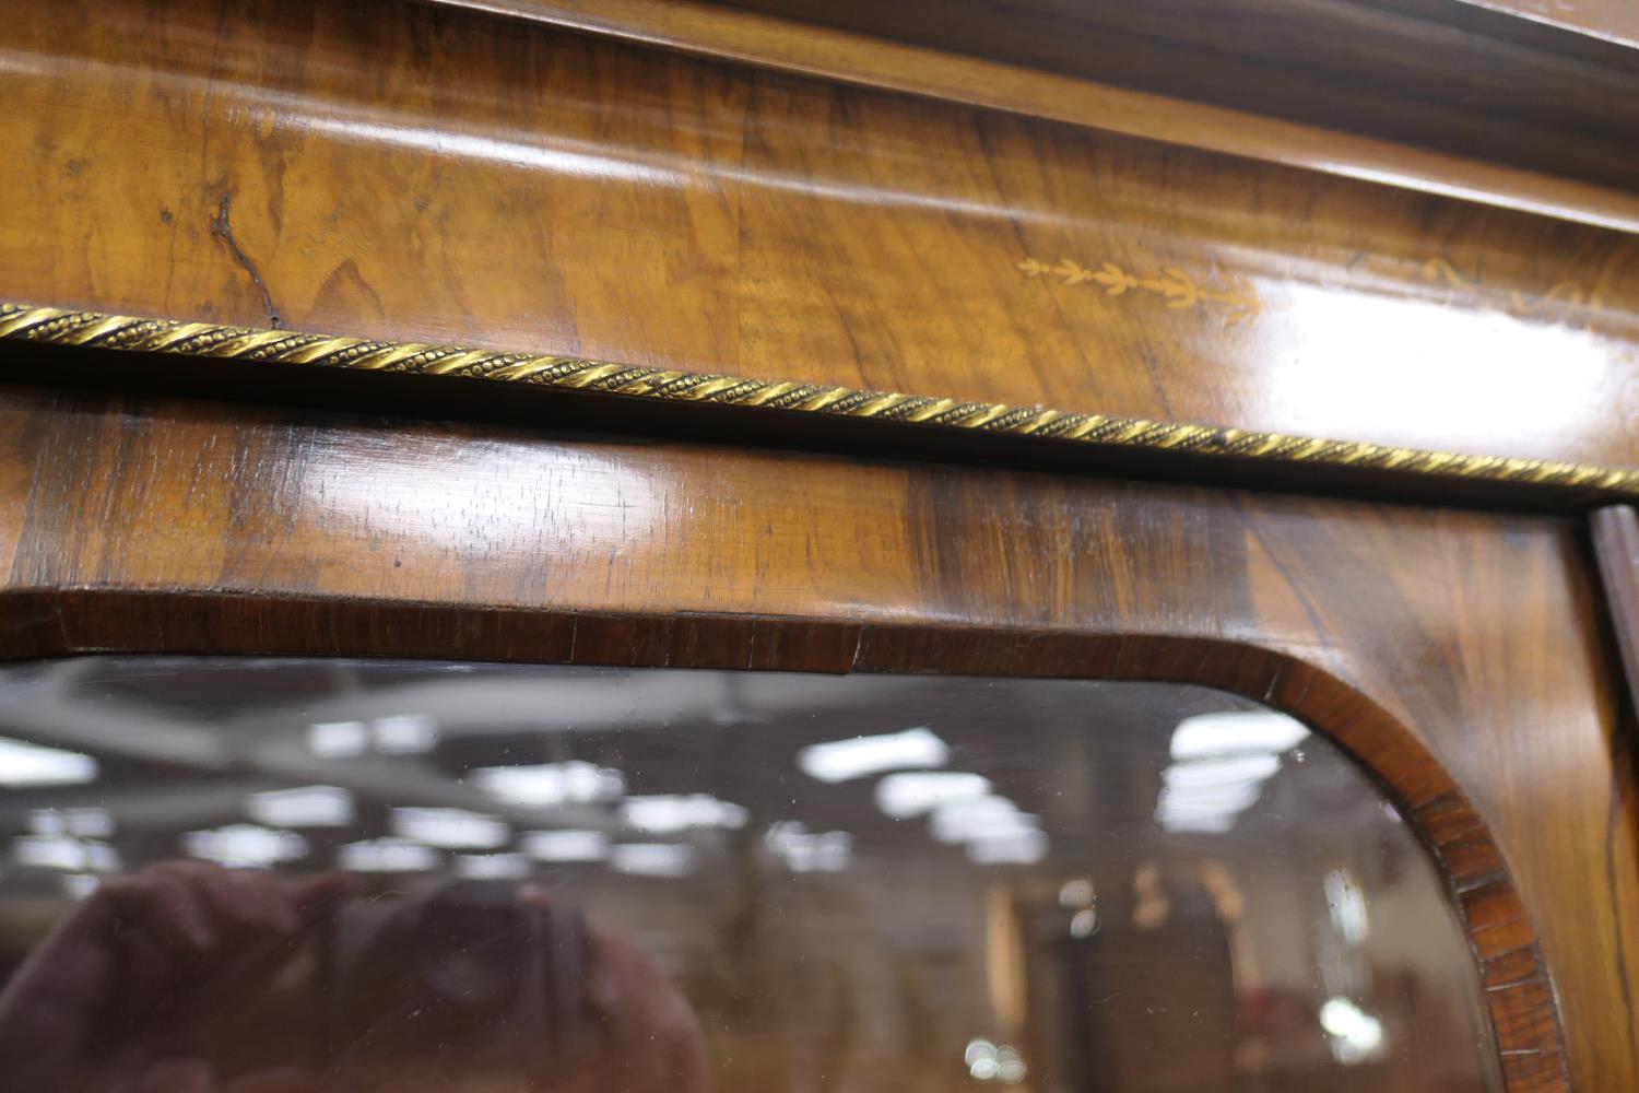
[[[16,1088],[1500,1088],[1413,832],[1198,687],[11,665],[0,824]]]

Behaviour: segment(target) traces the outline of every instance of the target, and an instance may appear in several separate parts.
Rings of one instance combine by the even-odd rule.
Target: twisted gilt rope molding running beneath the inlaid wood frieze
[[[1505,456],[1464,456],[1098,413],[1064,413],[1042,406],[1006,406],[854,387],[677,372],[580,357],[372,341],[287,329],[251,329],[28,303],[0,303],[0,341],[403,375],[465,377],[493,383],[533,383],[667,401],[720,403],[975,429],[1129,451],[1260,459],[1292,465],[1347,467],[1519,487],[1585,490],[1606,498],[1639,498],[1639,470],[1621,467]]]

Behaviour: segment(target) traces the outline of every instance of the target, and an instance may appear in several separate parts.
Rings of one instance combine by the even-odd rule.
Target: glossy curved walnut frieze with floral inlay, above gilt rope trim
[[[1639,465],[1628,234],[474,13],[25,7],[0,297]]]

